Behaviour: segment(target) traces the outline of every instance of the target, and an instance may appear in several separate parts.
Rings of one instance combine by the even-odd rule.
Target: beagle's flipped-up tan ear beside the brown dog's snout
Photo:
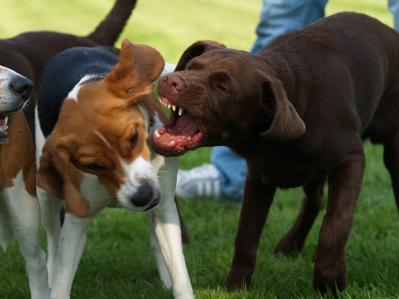
[[[154,82],[164,70],[165,60],[154,48],[123,40],[119,62],[104,78],[108,89],[133,103],[152,92]]]

